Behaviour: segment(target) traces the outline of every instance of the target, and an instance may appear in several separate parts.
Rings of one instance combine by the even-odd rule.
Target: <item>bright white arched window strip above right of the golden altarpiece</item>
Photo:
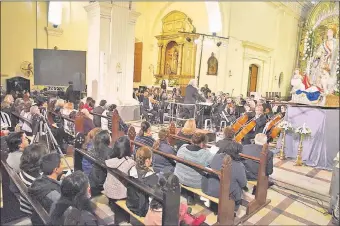
[[[210,32],[219,32],[222,30],[222,17],[220,12],[220,6],[218,2],[206,1],[205,2]]]

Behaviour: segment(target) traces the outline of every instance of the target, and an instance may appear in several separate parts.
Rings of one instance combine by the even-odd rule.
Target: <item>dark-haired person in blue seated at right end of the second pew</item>
[[[230,179],[230,195],[235,201],[235,212],[241,204],[242,189],[247,191],[247,177],[245,167],[241,161],[239,154],[242,152],[242,145],[236,142],[230,142],[229,145],[220,149],[211,161],[210,167],[214,170],[221,170],[223,159],[229,155],[232,159],[231,163],[231,179]],[[220,195],[220,179],[217,175],[208,174],[202,179],[202,191],[218,198]]]

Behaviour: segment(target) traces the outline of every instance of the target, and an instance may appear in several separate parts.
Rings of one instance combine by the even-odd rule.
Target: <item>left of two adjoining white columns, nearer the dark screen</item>
[[[105,98],[112,4],[92,2],[84,8],[88,15],[87,96],[99,100]]]

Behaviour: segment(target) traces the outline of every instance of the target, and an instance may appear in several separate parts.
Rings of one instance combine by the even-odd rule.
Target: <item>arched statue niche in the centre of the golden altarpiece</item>
[[[165,51],[165,74],[177,75],[178,68],[178,44],[171,41]]]

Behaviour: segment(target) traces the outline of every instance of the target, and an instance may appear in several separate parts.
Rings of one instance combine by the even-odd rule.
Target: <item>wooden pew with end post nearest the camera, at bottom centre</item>
[[[93,163],[105,168],[108,173],[114,175],[116,178],[119,178],[121,181],[131,184],[137,189],[145,192],[146,194],[154,197],[158,201],[163,204],[163,213],[162,213],[162,225],[178,225],[179,221],[179,206],[180,206],[180,192],[179,192],[179,183],[178,179],[174,179],[170,186],[166,191],[163,191],[162,194],[158,194],[154,189],[144,185],[140,181],[135,178],[129,177],[127,174],[119,171],[118,169],[111,169],[105,165],[104,161],[98,160],[95,156],[92,156],[88,152],[82,149],[76,149],[76,152],[90,159]],[[74,161],[79,161],[79,159],[74,159]],[[75,163],[76,164],[76,163]],[[138,220],[140,223],[144,224],[144,218],[139,217],[136,214],[132,213],[126,206],[125,200],[119,200],[116,204],[121,207],[123,210],[128,212],[133,218]]]

